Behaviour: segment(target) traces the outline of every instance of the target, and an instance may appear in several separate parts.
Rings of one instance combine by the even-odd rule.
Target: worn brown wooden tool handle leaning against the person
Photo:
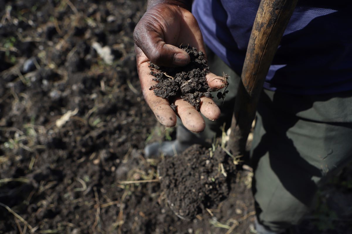
[[[261,0],[247,47],[228,149],[244,155],[265,77],[298,0]]]

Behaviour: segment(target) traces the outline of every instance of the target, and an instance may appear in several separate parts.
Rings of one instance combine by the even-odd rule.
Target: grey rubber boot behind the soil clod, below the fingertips
[[[206,137],[202,133],[192,133],[184,126],[177,126],[176,128],[176,140],[154,142],[148,144],[144,148],[146,158],[153,158],[159,155],[174,156],[181,154],[188,147],[193,144],[200,144],[203,146],[209,146],[206,142]]]

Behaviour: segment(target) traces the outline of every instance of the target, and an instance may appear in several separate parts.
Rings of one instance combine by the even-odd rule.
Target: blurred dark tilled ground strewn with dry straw
[[[140,91],[132,33],[145,8],[0,0],[0,233],[255,233],[250,167],[191,221],[160,191],[163,158],[143,148],[175,133]],[[296,233],[352,233],[351,194],[350,166]]]

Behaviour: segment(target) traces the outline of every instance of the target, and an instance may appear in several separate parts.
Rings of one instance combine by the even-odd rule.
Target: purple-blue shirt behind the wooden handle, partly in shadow
[[[205,43],[238,74],[259,2],[195,0],[193,3],[192,12]],[[352,90],[351,9],[351,1],[298,1],[264,88],[295,94]]]

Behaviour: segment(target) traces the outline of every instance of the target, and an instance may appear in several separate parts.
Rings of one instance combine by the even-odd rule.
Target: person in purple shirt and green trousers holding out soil
[[[284,233],[297,225],[317,189],[352,159],[351,5],[298,2],[284,32],[258,103],[250,154],[258,233]],[[224,122],[230,127],[237,74],[258,6],[258,0],[194,0],[193,6],[187,0],[148,1],[134,30],[143,95],[164,126],[175,126],[176,116],[182,124],[175,141],[149,145],[147,155],[182,152],[191,143],[213,139]],[[181,44],[206,52],[214,71],[207,75],[210,88],[225,85],[215,74],[230,75],[232,95],[224,105],[202,99],[205,119],[183,100],[175,101],[175,113],[149,90],[154,84],[149,61],[189,63],[189,55],[177,47]]]

